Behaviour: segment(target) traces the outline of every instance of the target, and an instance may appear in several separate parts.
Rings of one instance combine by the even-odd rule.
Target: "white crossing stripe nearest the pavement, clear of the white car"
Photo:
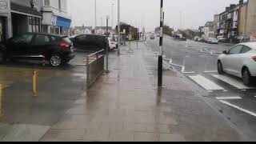
[[[189,76],[194,82],[197,82],[198,85],[202,86],[205,90],[225,90],[222,86],[218,86],[214,82],[211,82],[209,79],[202,77],[201,75]]]

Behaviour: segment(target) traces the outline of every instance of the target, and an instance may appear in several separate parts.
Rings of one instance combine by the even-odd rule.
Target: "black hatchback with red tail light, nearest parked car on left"
[[[0,63],[7,59],[45,57],[51,66],[61,66],[75,57],[73,43],[67,36],[26,33],[0,43]]]

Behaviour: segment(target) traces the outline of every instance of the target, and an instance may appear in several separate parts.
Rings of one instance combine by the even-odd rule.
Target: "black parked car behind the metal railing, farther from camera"
[[[106,50],[109,47],[106,36],[98,34],[80,34],[74,38],[70,38],[70,40],[73,42],[75,49],[89,52]]]

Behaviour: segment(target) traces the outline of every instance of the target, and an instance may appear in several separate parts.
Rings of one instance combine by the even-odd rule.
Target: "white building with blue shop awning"
[[[42,32],[70,35],[70,25],[66,0],[42,0]]]

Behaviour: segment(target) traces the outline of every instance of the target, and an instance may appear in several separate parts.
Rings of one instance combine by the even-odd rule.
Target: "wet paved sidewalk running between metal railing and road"
[[[157,58],[144,42],[110,55],[110,74],[71,106],[40,141],[242,141],[230,123],[165,70],[158,90]]]

